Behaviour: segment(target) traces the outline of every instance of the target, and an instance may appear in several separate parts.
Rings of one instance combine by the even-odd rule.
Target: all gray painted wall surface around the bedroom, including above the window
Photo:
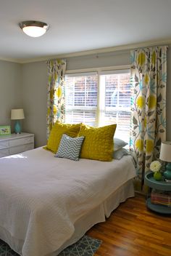
[[[171,51],[167,55],[167,140],[171,140]],[[67,58],[67,70],[130,64],[130,51]],[[35,134],[36,147],[46,145],[46,62],[0,61],[0,125],[10,124],[11,108],[24,108],[23,131]],[[23,104],[22,104],[23,103]],[[3,110],[3,111],[2,111]]]

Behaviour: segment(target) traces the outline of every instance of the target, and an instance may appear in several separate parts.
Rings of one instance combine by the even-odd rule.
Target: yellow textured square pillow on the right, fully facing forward
[[[81,155],[82,159],[112,161],[114,149],[114,132],[117,124],[93,128],[86,125],[80,127],[78,136],[84,136]]]

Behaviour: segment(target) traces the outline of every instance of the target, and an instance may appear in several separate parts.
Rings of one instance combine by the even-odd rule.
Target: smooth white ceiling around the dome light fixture
[[[18,23],[50,25],[39,38]],[[25,63],[71,52],[171,41],[171,0],[0,0],[0,59]]]

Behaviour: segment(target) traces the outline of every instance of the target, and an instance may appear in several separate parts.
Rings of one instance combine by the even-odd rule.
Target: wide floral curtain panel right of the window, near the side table
[[[131,51],[131,136],[138,178],[151,161],[159,159],[161,141],[166,138],[167,47]]]

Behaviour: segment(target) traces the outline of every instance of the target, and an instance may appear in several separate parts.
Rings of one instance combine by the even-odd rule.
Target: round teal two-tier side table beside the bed
[[[164,177],[163,180],[154,180],[153,172],[146,172],[144,177],[144,184],[146,184],[149,188],[155,188],[160,191],[171,191],[171,183],[164,181]],[[161,204],[152,204],[150,197],[146,199],[146,206],[154,212],[167,215],[171,214],[171,207],[167,207]]]

